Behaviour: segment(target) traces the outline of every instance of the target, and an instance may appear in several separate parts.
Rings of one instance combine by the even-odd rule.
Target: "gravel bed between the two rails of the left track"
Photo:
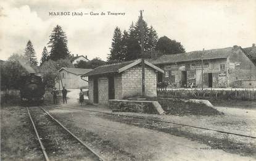
[[[43,110],[30,108],[30,114],[50,160],[99,160]]]

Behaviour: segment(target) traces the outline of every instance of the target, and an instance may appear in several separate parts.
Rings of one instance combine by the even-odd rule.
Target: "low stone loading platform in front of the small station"
[[[164,113],[161,105],[157,101],[130,101],[130,100],[109,100],[109,107],[120,112],[139,112],[145,114]]]

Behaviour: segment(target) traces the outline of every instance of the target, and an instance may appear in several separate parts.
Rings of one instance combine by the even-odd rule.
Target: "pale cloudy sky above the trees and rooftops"
[[[256,43],[256,0],[8,0],[0,1],[0,59],[22,54],[28,39],[41,59],[49,35],[60,25],[71,54],[107,60],[115,27],[128,30],[138,20],[139,10],[144,10],[143,19],[159,38],[176,39],[187,52],[234,45],[250,47]],[[74,12],[83,15],[73,16]]]

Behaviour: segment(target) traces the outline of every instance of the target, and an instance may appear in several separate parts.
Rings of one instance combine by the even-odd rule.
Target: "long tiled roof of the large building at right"
[[[229,54],[233,52],[233,47],[227,47],[223,49],[211,49],[205,51],[191,51],[184,52],[181,54],[168,54],[160,56],[157,59],[151,59],[149,62],[152,64],[168,64],[175,62],[188,62],[192,60],[201,60],[202,57],[204,60],[207,59],[221,59],[227,58]]]

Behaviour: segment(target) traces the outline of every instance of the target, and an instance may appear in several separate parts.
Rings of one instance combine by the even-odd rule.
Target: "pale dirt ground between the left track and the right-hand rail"
[[[211,149],[205,144],[183,137],[105,120],[97,117],[94,112],[63,108],[50,112],[70,125],[73,131],[90,131],[114,147],[122,149],[124,154],[133,156],[126,158],[127,160],[254,160],[220,149]],[[80,137],[83,137],[83,134]],[[98,148],[98,151],[102,152],[103,149]],[[103,152],[108,160],[115,160],[120,157],[118,155],[124,155],[109,153]],[[123,157],[123,160],[126,159]]]

